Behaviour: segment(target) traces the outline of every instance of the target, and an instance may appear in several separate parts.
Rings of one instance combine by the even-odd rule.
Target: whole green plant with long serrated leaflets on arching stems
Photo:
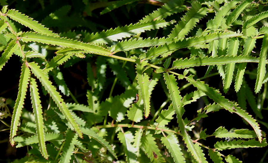
[[[101,14],[125,4],[135,5],[136,1],[115,1]],[[3,67],[12,55],[18,55],[22,63],[10,125],[11,145],[31,147],[29,156],[21,161],[201,163],[225,159],[228,163],[236,163],[241,161],[233,155],[223,155],[221,151],[267,146],[258,122],[246,111],[247,100],[254,116],[263,118],[263,108],[257,106],[244,78],[247,63],[256,63],[255,93],[260,92],[268,80],[268,27],[260,22],[268,17],[267,4],[252,0],[202,3],[156,0],[154,3],[161,7],[139,22],[98,33],[54,33],[15,9],[2,8],[0,70],[7,71]],[[208,14],[214,14],[214,17],[204,25]],[[174,15],[183,16],[180,20],[167,21]],[[29,31],[20,31],[14,22],[28,27]],[[162,38],[142,38],[140,35],[160,28],[171,29],[170,34]],[[262,44],[253,56],[256,41]],[[45,52],[36,50],[36,46]],[[181,49],[189,50],[188,55],[178,55]],[[48,51],[56,53],[51,60],[45,55]],[[86,92],[88,105],[77,102],[59,68],[83,60],[87,61],[90,86]],[[109,89],[105,86],[108,66],[116,78],[109,98],[102,101],[104,89]],[[193,71],[199,66],[208,68],[201,79]],[[217,71],[221,76],[224,92],[228,92],[234,82],[240,99],[238,103],[202,81],[211,71]],[[178,87],[181,81],[188,84]],[[112,96],[116,83],[125,90]],[[166,100],[155,108],[151,97],[155,96],[153,90],[158,83],[162,83]],[[189,85],[196,90],[182,95],[180,91]],[[30,92],[32,113],[24,109],[27,91]],[[40,96],[49,97],[48,108],[42,107]],[[63,96],[71,96],[74,102],[66,103]],[[211,99],[212,103],[199,109],[193,120],[184,118],[185,106],[203,97]],[[219,126],[211,135],[207,135],[205,129],[195,130],[193,136],[195,126],[192,122],[198,123],[221,109],[240,116],[251,130],[228,131]],[[23,116],[24,112],[31,118]],[[21,119],[27,121],[21,124]],[[171,123],[172,119],[176,119],[177,124]],[[208,137],[221,139],[208,147],[205,141]]]

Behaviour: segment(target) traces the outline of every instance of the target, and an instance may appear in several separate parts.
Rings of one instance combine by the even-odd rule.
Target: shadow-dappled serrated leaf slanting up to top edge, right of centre
[[[148,22],[152,20],[161,20],[170,15],[182,12],[186,9],[186,6],[183,5],[182,0],[177,1],[168,1],[166,4],[152,12],[151,14],[145,16],[140,22]]]

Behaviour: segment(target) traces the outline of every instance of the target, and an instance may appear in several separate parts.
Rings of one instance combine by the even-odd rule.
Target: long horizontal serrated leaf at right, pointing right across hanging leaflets
[[[225,65],[228,63],[247,63],[247,62],[254,62],[258,63],[259,59],[256,57],[251,56],[221,56],[221,57],[191,57],[190,59],[180,58],[180,60],[175,60],[173,62],[172,68],[169,68],[169,70],[173,69],[183,69],[183,68],[189,68],[189,67],[195,67],[195,66],[205,66],[205,65]]]

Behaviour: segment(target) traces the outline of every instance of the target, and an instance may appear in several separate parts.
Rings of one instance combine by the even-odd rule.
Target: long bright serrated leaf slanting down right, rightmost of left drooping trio
[[[61,98],[60,93],[57,92],[56,88],[52,85],[51,81],[49,81],[47,74],[45,74],[40,69],[37,63],[31,62],[28,64],[29,64],[29,67],[31,68],[32,73],[40,80],[41,84],[45,87],[46,91],[48,91],[49,95],[57,104],[57,106],[59,107],[60,111],[63,113],[65,118],[72,125],[72,127],[74,127],[75,132],[78,134],[80,138],[82,138],[83,136],[82,136],[82,133],[80,131],[78,124],[75,122],[73,116],[71,115],[71,112],[68,110],[65,102]]]

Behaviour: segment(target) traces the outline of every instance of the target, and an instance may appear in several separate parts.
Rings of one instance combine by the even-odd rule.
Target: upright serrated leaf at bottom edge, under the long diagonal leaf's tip
[[[77,142],[78,135],[71,130],[66,131],[66,139],[62,148],[62,154],[59,163],[69,163],[73,155],[74,145]]]

